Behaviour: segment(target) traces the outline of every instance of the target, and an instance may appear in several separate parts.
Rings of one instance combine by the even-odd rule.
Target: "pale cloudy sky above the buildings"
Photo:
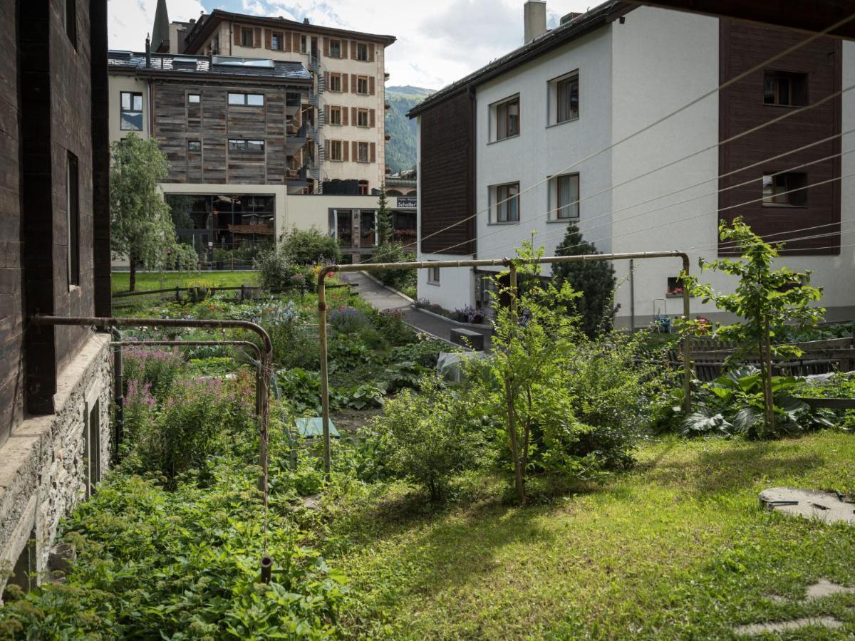
[[[598,0],[547,0],[549,26]],[[156,0],[109,0],[109,46],[144,50]],[[167,0],[170,21],[225,9],[398,38],[386,49],[388,85],[439,89],[522,44],[523,0]]]

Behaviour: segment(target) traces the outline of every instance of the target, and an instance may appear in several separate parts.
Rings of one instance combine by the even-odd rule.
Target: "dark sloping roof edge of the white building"
[[[551,31],[545,32],[542,36],[534,38],[531,42],[523,44],[522,47],[518,47],[510,51],[510,53],[496,58],[468,76],[452,82],[451,85],[435,91],[422,100],[421,103],[410,109],[407,115],[410,118],[414,118],[416,115],[433,107],[433,105],[443,102],[446,98],[457,95],[461,91],[469,90],[470,87],[481,85],[489,79],[518,67],[523,62],[528,62],[532,58],[542,56],[562,44],[567,44],[576,38],[581,38],[581,36],[593,32],[599,27],[609,24],[611,21],[615,21],[619,16],[628,13],[632,9],[634,9],[634,5],[617,2],[616,0],[600,4],[598,7],[594,7],[590,11],[578,15],[572,20],[563,22]]]

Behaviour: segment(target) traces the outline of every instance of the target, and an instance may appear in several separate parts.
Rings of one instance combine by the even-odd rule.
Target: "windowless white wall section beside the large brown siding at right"
[[[716,246],[718,225],[718,94],[669,117],[652,129],[622,141],[669,115],[719,84],[718,19],[665,9],[640,7],[614,22],[612,31],[612,151],[611,230],[599,226],[587,239],[604,238],[611,231],[616,252],[689,250],[691,268],[698,269],[699,250]],[[643,173],[713,146],[698,156],[635,179]],[[703,185],[663,197],[683,186],[707,179]],[[622,185],[622,183],[627,183]],[[652,200],[656,198],[656,200]],[[682,203],[692,198],[687,203]],[[645,203],[652,200],[650,203]],[[644,203],[644,204],[638,204]],[[681,203],[681,204],[675,204]],[[670,206],[672,205],[673,206]],[[691,220],[681,221],[690,218]],[[598,244],[598,243],[597,243]],[[599,246],[599,244],[598,244]],[[602,248],[601,248],[602,249]],[[715,258],[716,250],[703,255]],[[628,324],[630,298],[628,262],[615,263],[621,283],[616,303]],[[681,271],[678,259],[634,261],[635,314],[650,316],[655,309],[682,312],[682,298],[666,298],[669,276]],[[705,279],[725,285],[707,273]],[[693,300],[693,312],[710,315],[711,306]]]

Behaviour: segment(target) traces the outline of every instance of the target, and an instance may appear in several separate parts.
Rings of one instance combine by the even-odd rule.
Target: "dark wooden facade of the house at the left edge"
[[[89,335],[27,318],[109,315],[107,0],[74,5],[67,22],[62,0],[0,2],[0,444],[54,411],[57,373]]]

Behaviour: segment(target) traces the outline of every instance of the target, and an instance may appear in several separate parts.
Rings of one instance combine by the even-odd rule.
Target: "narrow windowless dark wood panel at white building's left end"
[[[475,252],[475,113],[465,91],[421,114],[422,251],[466,255]],[[463,222],[465,221],[465,222]],[[450,250],[445,248],[457,245]]]

